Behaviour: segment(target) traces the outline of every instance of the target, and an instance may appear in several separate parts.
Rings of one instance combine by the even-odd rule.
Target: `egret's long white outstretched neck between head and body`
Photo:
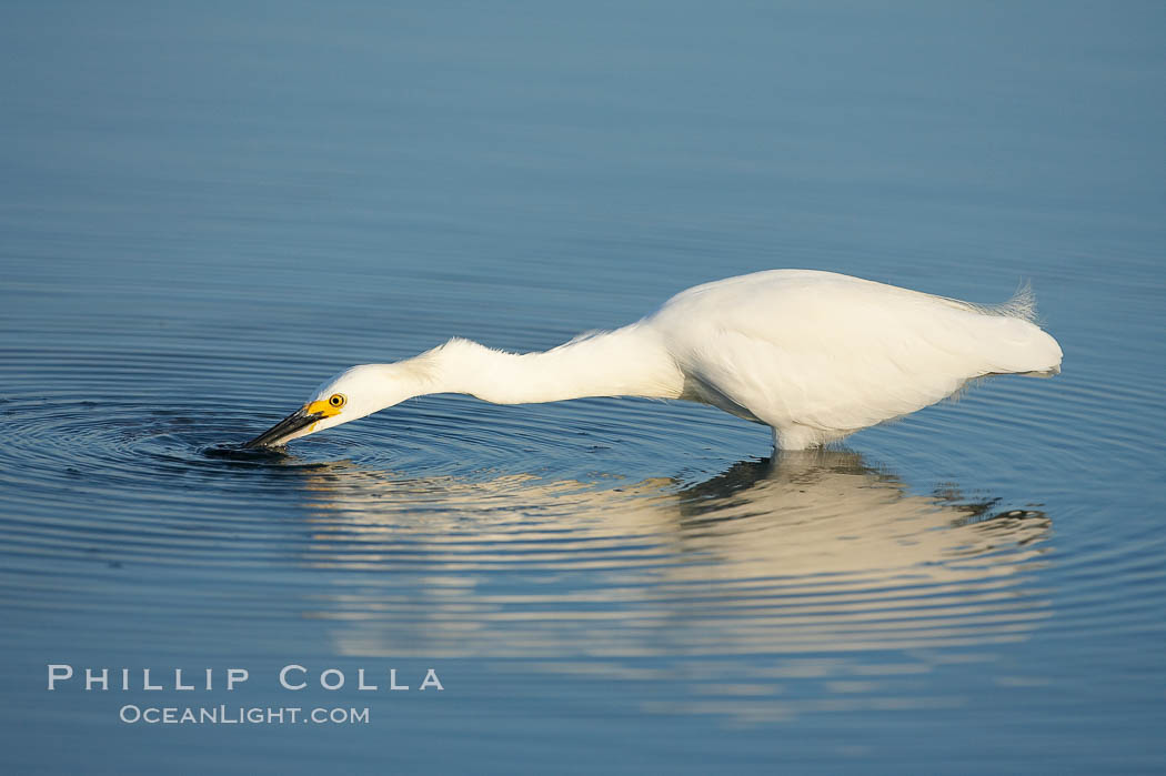
[[[496,404],[584,396],[676,398],[683,375],[654,332],[638,324],[541,353],[504,353],[454,339],[399,366],[428,375],[423,393],[471,394]]]

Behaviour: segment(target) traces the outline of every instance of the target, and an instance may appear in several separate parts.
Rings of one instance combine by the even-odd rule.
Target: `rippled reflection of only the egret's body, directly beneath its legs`
[[[936,583],[1011,574],[1037,556],[1038,548],[1024,548],[1051,525],[1042,512],[1004,510],[998,499],[967,499],[951,486],[912,495],[897,477],[847,451],[738,463],[681,491],[675,514],[684,544],[723,558],[737,577],[770,578]],[[1004,563],[996,549],[1005,551]]]

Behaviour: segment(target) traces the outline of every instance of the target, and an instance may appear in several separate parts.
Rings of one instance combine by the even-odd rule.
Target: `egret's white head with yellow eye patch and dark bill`
[[[408,398],[392,364],[366,364],[326,380],[292,415],[247,442],[244,447],[275,447],[392,407]]]

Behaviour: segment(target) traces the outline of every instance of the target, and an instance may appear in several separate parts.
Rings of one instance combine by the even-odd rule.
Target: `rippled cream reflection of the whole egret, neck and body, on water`
[[[635,485],[307,470],[311,616],[345,655],[576,661],[1023,639],[1049,518],[912,494],[848,451]]]

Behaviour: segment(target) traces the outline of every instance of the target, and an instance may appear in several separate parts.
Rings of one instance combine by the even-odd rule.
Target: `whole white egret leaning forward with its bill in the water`
[[[641,320],[546,352],[465,339],[354,366],[246,443],[282,445],[424,394],[496,404],[584,396],[682,398],[803,450],[914,412],[992,374],[1053,375],[1061,348],[1027,288],[981,306],[835,273],[774,269],[682,291]]]

